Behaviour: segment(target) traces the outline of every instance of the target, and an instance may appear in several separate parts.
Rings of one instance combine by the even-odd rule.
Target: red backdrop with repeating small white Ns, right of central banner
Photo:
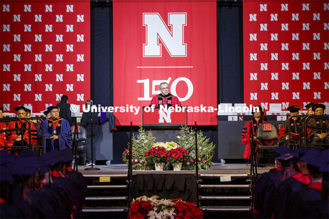
[[[243,1],[244,101],[329,100],[328,1]]]

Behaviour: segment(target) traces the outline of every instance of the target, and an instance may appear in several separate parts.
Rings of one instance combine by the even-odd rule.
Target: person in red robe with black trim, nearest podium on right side
[[[265,120],[263,120],[263,115],[264,115],[264,110],[260,106],[255,106],[253,107],[252,111],[252,120],[248,121],[245,123],[245,127],[243,127],[242,133],[241,133],[241,143],[245,144],[245,153],[243,154],[244,159],[249,159],[250,158],[250,129],[252,127],[252,136],[254,136],[254,147],[256,149],[256,146],[258,144],[260,145],[265,145],[269,144],[270,142],[264,142],[260,141],[256,137],[256,130],[260,125],[263,123],[267,123]]]

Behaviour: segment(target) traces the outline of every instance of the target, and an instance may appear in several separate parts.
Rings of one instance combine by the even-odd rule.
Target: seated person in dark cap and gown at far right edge
[[[324,104],[318,103],[313,105],[313,111],[315,116],[323,116],[326,106]],[[310,138],[312,138],[312,144],[321,144],[321,146],[328,149],[329,146],[329,123],[328,119],[315,118],[314,126],[321,127],[322,129],[313,129],[310,131]]]

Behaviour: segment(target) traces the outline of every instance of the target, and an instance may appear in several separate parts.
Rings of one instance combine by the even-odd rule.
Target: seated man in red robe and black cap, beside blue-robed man
[[[16,110],[17,115],[19,116],[19,118],[26,118],[26,112],[27,109],[21,105],[19,107],[14,107],[14,110]],[[34,126],[34,124],[29,121],[29,123],[27,123],[26,120],[22,120],[23,122],[23,128],[31,128],[31,133],[33,133],[34,131],[36,131],[36,127]],[[8,123],[8,127],[7,129],[17,129],[17,128],[21,128],[22,123],[19,120],[15,120],[15,121],[11,121],[10,123]],[[5,144],[5,146],[21,146],[22,145],[22,141],[24,143],[25,146],[27,146],[27,144],[29,144],[30,142],[34,145],[38,144],[38,139],[37,136],[31,135],[31,140],[29,139],[29,130],[26,129],[25,131],[23,131],[23,135],[21,133],[21,130],[18,131],[10,131],[10,136],[8,136],[8,142],[7,144]],[[11,153],[15,153],[16,151],[12,150]]]

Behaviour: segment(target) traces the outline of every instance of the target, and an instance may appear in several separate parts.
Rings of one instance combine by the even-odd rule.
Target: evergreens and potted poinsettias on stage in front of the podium
[[[181,127],[180,135],[177,136],[177,142],[156,142],[156,138],[153,136],[151,131],[145,131],[143,127],[140,127],[138,130],[138,135],[134,135],[132,140],[133,148],[132,148],[132,168],[133,169],[142,169],[142,170],[151,170],[154,168],[154,161],[158,162],[161,159],[161,162],[167,162],[167,169],[169,169],[170,164],[175,162],[183,162],[182,169],[183,170],[195,170],[196,159],[198,159],[197,166],[199,169],[210,169],[212,166],[212,157],[215,153],[215,144],[210,142],[209,138],[204,136],[202,131],[197,132],[197,146],[198,146],[198,155],[195,157],[195,131],[191,127]],[[156,142],[156,143],[155,143]],[[129,155],[129,143],[128,149],[123,151],[123,162],[128,164],[128,155]],[[154,150],[152,148],[156,148],[157,146],[161,146],[167,150],[167,153],[173,149],[178,149],[181,147],[188,151],[188,157],[180,157],[178,160],[172,157],[176,157],[177,155],[172,156],[173,154],[167,155],[165,159],[163,157],[151,157],[147,158],[147,153],[149,150]],[[174,153],[174,151],[172,151]],[[178,153],[178,152],[177,152]],[[169,158],[168,158],[169,156]],[[183,159],[183,161],[181,161]]]

